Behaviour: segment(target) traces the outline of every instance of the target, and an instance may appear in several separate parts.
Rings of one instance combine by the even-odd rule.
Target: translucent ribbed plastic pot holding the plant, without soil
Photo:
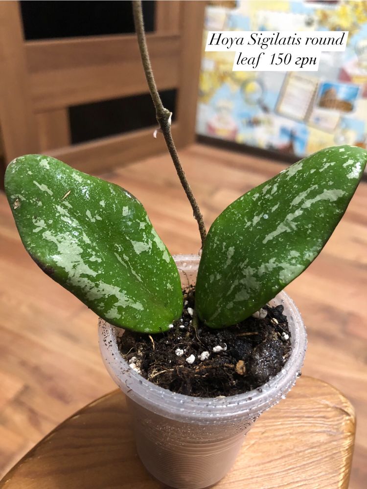
[[[200,258],[175,257],[183,286],[194,284]],[[293,301],[282,304],[291,331],[291,355],[283,369],[259,390],[227,398],[196,398],[163,389],[135,372],[119,354],[116,336],[123,330],[99,321],[99,344],[106,368],[125,393],[134,420],[138,454],[147,470],[163,484],[203,489],[226,475],[244,436],[261,413],[284,398],[300,374],[306,332]]]

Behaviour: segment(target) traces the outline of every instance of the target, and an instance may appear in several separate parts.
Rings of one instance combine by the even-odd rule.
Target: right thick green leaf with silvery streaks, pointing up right
[[[361,148],[328,148],[231,203],[203,248],[199,317],[213,328],[242,321],[307,268],[342,218],[366,160]]]

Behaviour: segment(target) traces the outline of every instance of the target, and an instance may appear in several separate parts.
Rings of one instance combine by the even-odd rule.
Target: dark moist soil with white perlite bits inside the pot
[[[199,322],[195,330],[187,310],[194,305],[195,289],[190,288],[184,291],[181,319],[168,332],[147,335],[125,331],[119,339],[121,355],[151,382],[197,397],[233,396],[260,389],[282,369],[291,350],[283,306],[264,306],[266,317],[250,316],[230,328],[210,329]],[[184,352],[177,355],[180,350]],[[207,358],[203,352],[208,352]]]

